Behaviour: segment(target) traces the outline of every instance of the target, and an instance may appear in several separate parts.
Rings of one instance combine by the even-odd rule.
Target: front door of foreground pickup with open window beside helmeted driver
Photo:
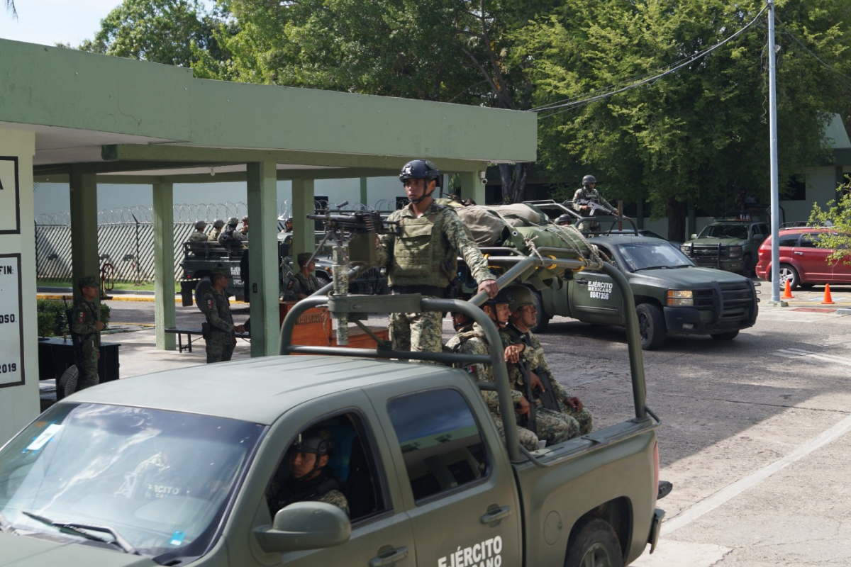
[[[334,408],[341,408],[334,411]],[[282,420],[283,421],[283,420]],[[342,485],[351,520],[349,541],[334,547],[309,551],[280,553],[277,561],[264,558],[259,564],[286,567],[317,567],[317,565],[386,565],[413,566],[414,534],[410,519],[403,507],[403,497],[397,490],[396,472],[392,467],[390,449],[385,435],[376,425],[366,394],[346,392],[326,396],[317,403],[305,404],[288,412],[288,427],[271,433],[271,446],[277,446],[277,465],[268,474],[263,502],[258,516],[260,524],[271,523],[277,513],[277,503],[286,497],[289,476],[288,451],[298,434],[321,430],[333,445],[328,468]],[[378,428],[376,432],[375,429]],[[237,552],[234,552],[237,553]],[[236,557],[231,565],[248,566],[245,557]]]

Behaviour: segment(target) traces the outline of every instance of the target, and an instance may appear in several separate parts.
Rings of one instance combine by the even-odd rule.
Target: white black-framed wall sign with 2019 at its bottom
[[[24,383],[20,254],[0,254],[0,388]]]

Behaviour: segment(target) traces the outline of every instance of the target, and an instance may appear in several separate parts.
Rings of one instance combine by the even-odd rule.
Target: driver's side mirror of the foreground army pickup
[[[266,553],[339,546],[349,541],[351,524],[346,513],[325,502],[294,502],[275,514],[271,526],[254,528]]]

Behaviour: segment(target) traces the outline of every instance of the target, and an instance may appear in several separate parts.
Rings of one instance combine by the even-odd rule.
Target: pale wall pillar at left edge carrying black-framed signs
[[[0,309],[14,315],[0,326],[0,445],[39,412],[35,151],[35,134],[0,129]]]

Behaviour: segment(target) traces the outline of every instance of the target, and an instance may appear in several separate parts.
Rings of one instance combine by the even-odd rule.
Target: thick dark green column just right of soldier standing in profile
[[[277,354],[280,335],[277,259],[277,164],[248,163],[248,294],[251,356]],[[302,217],[304,218],[304,217]],[[297,228],[297,217],[293,224]],[[234,321],[240,324],[243,321]]]

